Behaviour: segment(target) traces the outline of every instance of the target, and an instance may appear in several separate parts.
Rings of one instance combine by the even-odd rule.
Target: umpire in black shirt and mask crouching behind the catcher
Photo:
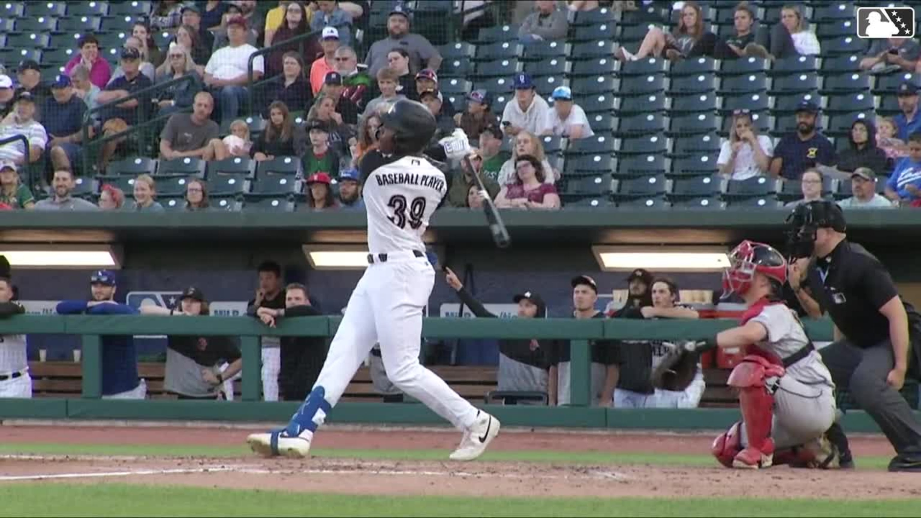
[[[790,255],[810,258],[791,286],[803,306],[818,304],[834,323],[822,360],[835,385],[880,426],[897,453],[890,471],[921,472],[921,423],[899,390],[921,374],[921,315],[902,300],[889,272],[847,241],[841,207],[830,201],[798,206],[787,218]],[[804,289],[806,288],[806,289]]]

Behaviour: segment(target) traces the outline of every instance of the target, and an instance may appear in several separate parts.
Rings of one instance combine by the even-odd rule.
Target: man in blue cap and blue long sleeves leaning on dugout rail
[[[115,299],[116,278],[111,270],[97,270],[89,277],[92,300],[62,300],[58,314],[137,314]],[[137,375],[134,336],[102,336],[102,398],[144,399],[147,385]]]

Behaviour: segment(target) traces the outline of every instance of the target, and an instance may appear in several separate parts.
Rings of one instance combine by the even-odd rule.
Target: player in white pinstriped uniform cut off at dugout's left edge
[[[0,317],[26,312],[13,301],[13,283],[0,277]],[[32,397],[25,335],[0,336],[0,397]]]

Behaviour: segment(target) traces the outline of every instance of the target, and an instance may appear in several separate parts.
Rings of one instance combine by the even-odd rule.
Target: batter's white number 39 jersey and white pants
[[[372,153],[362,160],[371,264],[349,298],[314,387],[323,387],[326,401],[335,406],[378,342],[387,376],[397,388],[455,427],[468,429],[476,408],[419,363],[423,310],[435,283],[422,235],[447,193],[445,175],[414,156],[377,166],[379,153]],[[314,421],[320,424],[322,418]]]

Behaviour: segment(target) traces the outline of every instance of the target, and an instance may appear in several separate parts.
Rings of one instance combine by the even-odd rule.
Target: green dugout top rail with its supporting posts
[[[249,317],[167,317],[142,315],[20,315],[0,320],[0,335],[82,335],[83,397],[101,395],[101,336],[202,335],[239,336],[243,357],[242,399],[260,399],[260,336],[333,336],[340,317],[300,317],[270,328]],[[556,338],[570,339],[572,361],[571,406],[589,406],[589,340],[704,339],[737,324],[735,320],[642,321],[574,319],[460,319],[426,318],[426,338]],[[808,321],[816,341],[828,341],[828,321]],[[257,366],[257,367],[253,367]]]

